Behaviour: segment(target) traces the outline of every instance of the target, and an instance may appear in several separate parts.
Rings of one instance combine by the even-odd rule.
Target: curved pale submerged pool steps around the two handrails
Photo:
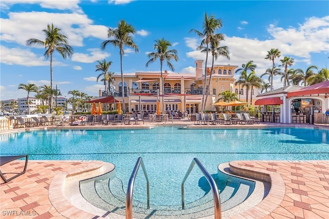
[[[222,211],[230,209],[242,203],[249,193],[249,186],[241,184],[239,188],[234,189],[233,183],[228,182],[223,191],[220,192]],[[234,185],[233,185],[234,186]],[[236,185],[235,185],[236,187]],[[114,177],[111,180],[101,182],[88,182],[80,185],[82,195],[94,206],[111,211],[117,214],[125,215],[125,192],[119,178]],[[136,218],[168,218],[168,216],[177,216],[179,218],[198,218],[210,216],[214,213],[213,197],[211,191],[199,200],[185,204],[185,209],[181,205],[176,206],[150,206],[146,208],[145,203],[133,201],[133,215]]]

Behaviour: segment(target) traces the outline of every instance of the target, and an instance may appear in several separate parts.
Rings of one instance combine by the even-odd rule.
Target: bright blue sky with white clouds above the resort
[[[110,71],[120,74],[119,49],[100,44],[107,29],[117,27],[124,19],[136,29],[134,42],[139,53],[125,48],[123,72],[159,71],[159,63],[149,65],[147,54],[154,41],[164,37],[178,51],[178,62],[172,62],[177,73],[195,74],[196,59],[205,54],[196,50],[200,38],[191,29],[202,30],[205,12],[221,18],[230,60],[220,57],[215,64],[237,65],[253,61],[261,75],[271,62],[264,57],[271,48],[281,57],[295,58],[291,68],[319,69],[329,65],[329,1],[1,1],[1,76],[0,99],[23,98],[26,91],[17,90],[20,83],[50,85],[50,61],[43,48],[27,47],[28,38],[44,40],[47,24],[62,29],[74,47],[74,55],[63,59],[54,53],[53,86],[63,96],[69,90],[98,95],[104,89],[96,83],[97,61],[112,61]],[[279,59],[280,59],[279,58]],[[279,59],[276,64],[279,65]],[[209,65],[211,62],[209,62]],[[169,70],[167,66],[163,70]],[[239,75],[235,76],[236,78]],[[273,81],[282,87],[280,78]],[[34,96],[34,93],[31,94]]]

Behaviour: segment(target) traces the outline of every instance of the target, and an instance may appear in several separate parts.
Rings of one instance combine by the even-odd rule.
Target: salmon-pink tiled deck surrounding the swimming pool
[[[193,122],[176,121],[174,124],[189,125]],[[144,124],[144,126],[149,125],[154,125],[154,123],[145,122]],[[291,124],[257,126],[278,125],[290,126]],[[118,126],[107,127],[118,128]],[[127,127],[127,125],[122,126]],[[143,125],[130,125],[129,128],[133,126]],[[321,125],[300,124],[300,126],[320,127]],[[93,127],[101,128],[100,126]],[[205,125],[198,125],[198,127],[205,127]],[[209,128],[210,125],[207,127]],[[223,127],[233,126],[224,125]],[[237,127],[247,126],[237,125]],[[252,125],[252,127],[256,126]],[[104,164],[106,163],[102,161],[30,160],[25,174],[0,185],[0,217],[125,218],[111,212],[87,213],[87,209],[80,210],[66,199],[67,193],[64,189],[66,184],[79,178],[102,173]],[[17,161],[2,166],[2,170],[3,172],[18,172],[23,166],[22,161]],[[237,174],[271,182],[271,189],[261,203],[230,218],[329,218],[329,161],[232,161],[230,169]]]

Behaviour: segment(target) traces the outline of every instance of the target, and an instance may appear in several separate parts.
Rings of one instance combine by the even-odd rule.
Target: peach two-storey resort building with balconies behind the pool
[[[125,112],[143,111],[155,112],[157,101],[160,102],[162,113],[170,111],[182,111],[187,113],[195,113],[201,111],[203,91],[205,85],[205,70],[203,68],[203,60],[195,61],[195,74],[162,72],[163,90],[161,87],[162,78],[160,72],[135,72],[123,74],[124,86],[124,103]],[[231,91],[237,94],[239,100],[246,101],[245,88],[234,85],[236,78],[234,70],[238,66],[231,65],[215,65],[213,71],[207,68],[206,90],[208,98],[206,102],[206,110],[216,110],[214,104],[219,98],[218,94],[223,91]],[[122,102],[122,82],[121,75],[114,74],[115,88],[109,95],[113,95],[116,100]],[[211,80],[210,86],[209,79]],[[258,89],[252,91],[253,102],[257,99]],[[250,98],[249,93],[249,98]],[[100,96],[106,96],[105,91],[99,91]],[[205,96],[206,98],[206,96]],[[114,102],[113,102],[114,103]],[[104,108],[113,109],[113,104]]]

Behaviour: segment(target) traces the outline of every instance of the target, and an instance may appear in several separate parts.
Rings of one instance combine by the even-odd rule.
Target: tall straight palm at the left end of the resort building
[[[120,67],[121,67],[121,94],[122,94],[122,106],[123,113],[125,113],[125,104],[124,104],[124,82],[123,82],[123,71],[122,71],[122,57],[124,54],[123,47],[131,47],[135,49],[135,52],[138,52],[138,47],[133,41],[133,34],[136,32],[135,28],[127,24],[124,20],[121,20],[118,23],[117,28],[108,28],[107,37],[113,37],[113,39],[104,41],[101,43],[101,49],[104,50],[108,44],[112,44],[114,47],[119,47],[120,49]]]

